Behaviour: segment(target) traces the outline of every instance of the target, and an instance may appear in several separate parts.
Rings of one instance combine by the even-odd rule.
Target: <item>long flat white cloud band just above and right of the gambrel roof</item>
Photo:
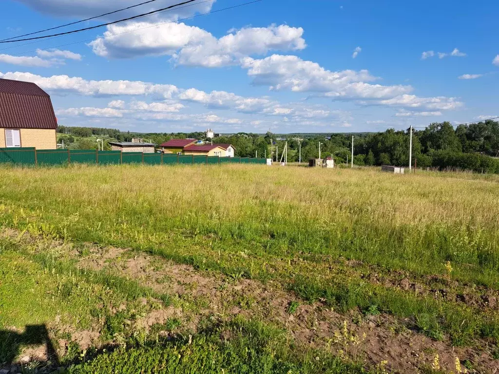
[[[33,82],[45,90],[54,93],[76,93],[84,96],[118,96],[118,95],[150,95],[169,99],[178,91],[170,84],[154,84],[142,81],[128,80],[85,80],[80,77],[53,75],[42,77],[31,73],[8,72],[1,73],[5,79]]]

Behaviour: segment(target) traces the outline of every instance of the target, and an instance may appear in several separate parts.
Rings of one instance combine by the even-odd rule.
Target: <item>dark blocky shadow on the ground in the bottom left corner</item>
[[[12,365],[14,359],[19,355],[23,347],[39,346],[44,344],[47,352],[47,362],[51,365],[59,365],[59,357],[48,337],[45,325],[26,326],[23,334],[13,331],[0,330],[0,368],[2,365]]]

